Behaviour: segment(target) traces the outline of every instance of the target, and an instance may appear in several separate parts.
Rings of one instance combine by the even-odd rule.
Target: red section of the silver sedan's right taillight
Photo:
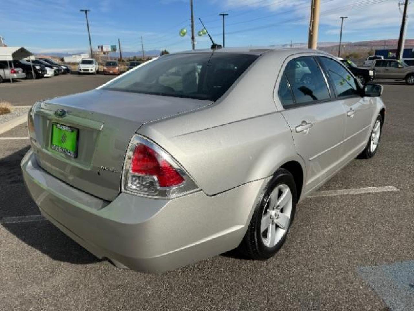
[[[161,155],[140,143],[132,155],[131,172],[156,177],[160,187],[173,187],[184,182],[173,166]]]

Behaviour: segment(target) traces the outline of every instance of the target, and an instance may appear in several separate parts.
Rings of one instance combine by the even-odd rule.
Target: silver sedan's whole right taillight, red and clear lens
[[[161,147],[134,135],[123,171],[123,191],[151,197],[173,198],[197,190],[197,185]]]

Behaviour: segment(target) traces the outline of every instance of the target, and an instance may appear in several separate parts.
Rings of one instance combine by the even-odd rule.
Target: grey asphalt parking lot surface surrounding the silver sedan
[[[3,84],[0,97],[27,105],[108,79]],[[352,161],[320,189],[395,191],[320,192],[299,204],[288,241],[270,260],[230,252],[159,275],[113,267],[36,216],[19,168],[26,125],[1,134],[0,309],[414,310],[413,98],[413,86],[384,83],[377,154]]]

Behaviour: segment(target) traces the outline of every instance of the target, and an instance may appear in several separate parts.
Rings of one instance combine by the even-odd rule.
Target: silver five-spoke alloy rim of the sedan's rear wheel
[[[267,199],[260,233],[263,243],[272,248],[282,240],[289,228],[292,214],[292,193],[286,184],[278,185]]]

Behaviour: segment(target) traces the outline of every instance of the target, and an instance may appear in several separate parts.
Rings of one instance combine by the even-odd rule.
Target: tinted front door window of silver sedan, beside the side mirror
[[[338,97],[358,95],[355,79],[344,66],[327,57],[320,57],[320,61],[323,63]]]

